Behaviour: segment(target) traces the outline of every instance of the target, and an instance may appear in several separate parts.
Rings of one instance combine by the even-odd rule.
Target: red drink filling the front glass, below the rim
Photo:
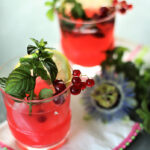
[[[41,83],[35,92],[48,87],[46,83]],[[32,115],[29,115],[29,105],[16,103],[4,95],[9,127],[16,140],[31,147],[53,146],[63,140],[71,120],[70,93],[63,96],[65,102],[62,105],[53,101],[35,104],[32,106]]]

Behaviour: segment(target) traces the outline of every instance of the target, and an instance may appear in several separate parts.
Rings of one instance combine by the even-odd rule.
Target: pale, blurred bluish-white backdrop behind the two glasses
[[[0,65],[8,59],[26,52],[29,38],[44,38],[59,43],[57,19],[46,17],[46,0],[0,1]],[[129,0],[134,9],[126,15],[117,15],[116,37],[137,43],[150,44],[150,1]]]

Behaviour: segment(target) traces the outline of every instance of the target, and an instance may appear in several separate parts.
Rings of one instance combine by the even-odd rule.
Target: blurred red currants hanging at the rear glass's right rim
[[[127,10],[132,9],[133,5],[128,4],[125,0],[119,2],[118,0],[113,0],[113,5],[119,10],[120,13],[125,14]]]

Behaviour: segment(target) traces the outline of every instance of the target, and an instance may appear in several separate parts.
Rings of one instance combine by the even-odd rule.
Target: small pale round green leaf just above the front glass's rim
[[[53,96],[53,91],[51,89],[42,89],[39,93],[40,99],[45,99]]]

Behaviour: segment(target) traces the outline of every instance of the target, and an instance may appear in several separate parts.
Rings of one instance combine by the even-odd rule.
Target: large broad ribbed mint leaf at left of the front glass
[[[10,73],[5,92],[17,98],[23,98],[25,94],[33,90],[34,87],[35,79],[31,76],[29,65],[21,64]]]

